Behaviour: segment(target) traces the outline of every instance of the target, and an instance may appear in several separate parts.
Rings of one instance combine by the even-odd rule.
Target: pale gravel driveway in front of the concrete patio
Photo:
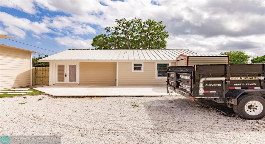
[[[62,143],[265,143],[265,118],[228,117],[184,97],[1,98],[0,112],[0,135]]]

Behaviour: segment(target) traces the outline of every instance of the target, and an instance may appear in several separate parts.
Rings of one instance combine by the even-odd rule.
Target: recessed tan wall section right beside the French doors
[[[79,73],[80,85],[116,86],[116,62],[80,62]]]

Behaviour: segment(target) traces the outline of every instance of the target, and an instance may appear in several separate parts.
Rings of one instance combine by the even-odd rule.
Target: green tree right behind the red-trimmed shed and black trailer
[[[250,56],[243,51],[221,52],[221,54],[229,56],[230,64],[247,64],[250,60]]]

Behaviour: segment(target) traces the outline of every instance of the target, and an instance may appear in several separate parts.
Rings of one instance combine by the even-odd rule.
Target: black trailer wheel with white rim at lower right
[[[244,119],[260,119],[265,116],[265,99],[256,95],[243,95],[233,110]]]

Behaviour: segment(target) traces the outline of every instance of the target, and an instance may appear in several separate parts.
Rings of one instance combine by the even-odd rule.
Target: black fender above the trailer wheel
[[[229,95],[228,102],[233,105],[237,105],[238,98],[242,96],[242,94],[253,94],[256,96],[265,97],[265,90],[264,89],[238,89],[235,90],[232,94]]]

